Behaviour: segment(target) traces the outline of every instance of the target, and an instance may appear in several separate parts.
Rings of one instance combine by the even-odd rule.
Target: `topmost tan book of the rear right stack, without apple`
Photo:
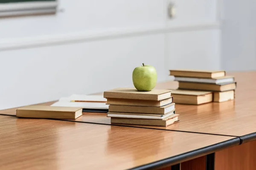
[[[226,71],[224,70],[193,70],[193,69],[178,69],[170,70],[171,76],[176,77],[200,77],[200,78],[217,78],[224,77]]]

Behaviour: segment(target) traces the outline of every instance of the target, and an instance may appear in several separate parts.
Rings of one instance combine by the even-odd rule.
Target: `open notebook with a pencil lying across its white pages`
[[[107,99],[103,95],[78,95],[62,97],[51,106],[81,107],[83,112],[108,113]]]

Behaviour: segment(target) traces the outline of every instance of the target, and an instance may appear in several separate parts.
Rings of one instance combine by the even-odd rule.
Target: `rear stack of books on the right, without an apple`
[[[179,89],[172,91],[175,103],[199,105],[235,98],[235,79],[224,70],[170,70],[170,75],[179,82]]]

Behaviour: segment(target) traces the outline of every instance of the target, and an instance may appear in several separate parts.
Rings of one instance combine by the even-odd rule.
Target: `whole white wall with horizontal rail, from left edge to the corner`
[[[219,69],[217,0],[60,0],[56,16],[0,20],[0,109],[132,86],[142,62]],[[193,8],[192,8],[193,7]],[[18,31],[17,31],[18,30]]]

